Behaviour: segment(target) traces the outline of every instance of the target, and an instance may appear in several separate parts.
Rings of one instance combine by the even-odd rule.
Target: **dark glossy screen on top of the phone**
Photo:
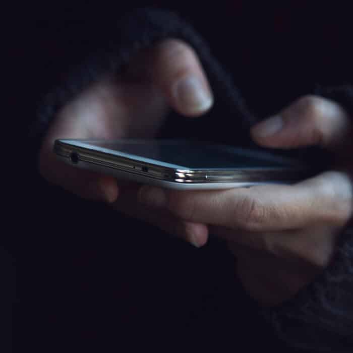
[[[85,143],[87,144],[87,142]],[[136,156],[138,159],[154,160],[162,163],[185,166],[192,169],[219,168],[270,168],[293,166],[286,159],[263,151],[247,151],[230,146],[212,145],[199,142],[181,141],[89,141],[92,147]]]

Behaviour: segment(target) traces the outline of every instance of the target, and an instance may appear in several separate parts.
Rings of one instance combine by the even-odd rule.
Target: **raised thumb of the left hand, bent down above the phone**
[[[168,39],[153,52],[152,80],[179,113],[198,116],[211,108],[213,97],[195,51],[177,39]]]

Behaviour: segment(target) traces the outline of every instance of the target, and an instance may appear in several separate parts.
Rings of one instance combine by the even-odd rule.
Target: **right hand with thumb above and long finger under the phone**
[[[321,145],[337,154],[352,138],[345,111],[316,96],[299,99],[254,127],[252,135],[263,146]],[[237,257],[238,276],[250,295],[276,305],[294,296],[332,259],[337,234],[352,215],[351,167],[350,162],[340,171],[290,186],[193,192],[145,186],[140,199],[186,221],[207,224]]]

